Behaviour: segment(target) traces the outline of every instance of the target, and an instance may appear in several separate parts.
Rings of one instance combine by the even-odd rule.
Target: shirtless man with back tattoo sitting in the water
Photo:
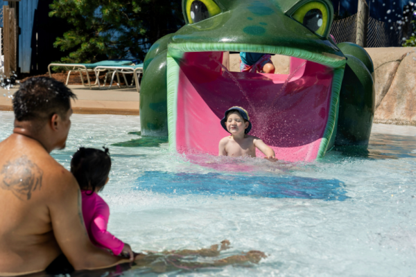
[[[90,242],[76,179],[49,155],[65,147],[71,98],[44,77],[15,93],[15,129],[0,143],[0,276],[43,271],[62,253],[76,270],[129,262]]]

